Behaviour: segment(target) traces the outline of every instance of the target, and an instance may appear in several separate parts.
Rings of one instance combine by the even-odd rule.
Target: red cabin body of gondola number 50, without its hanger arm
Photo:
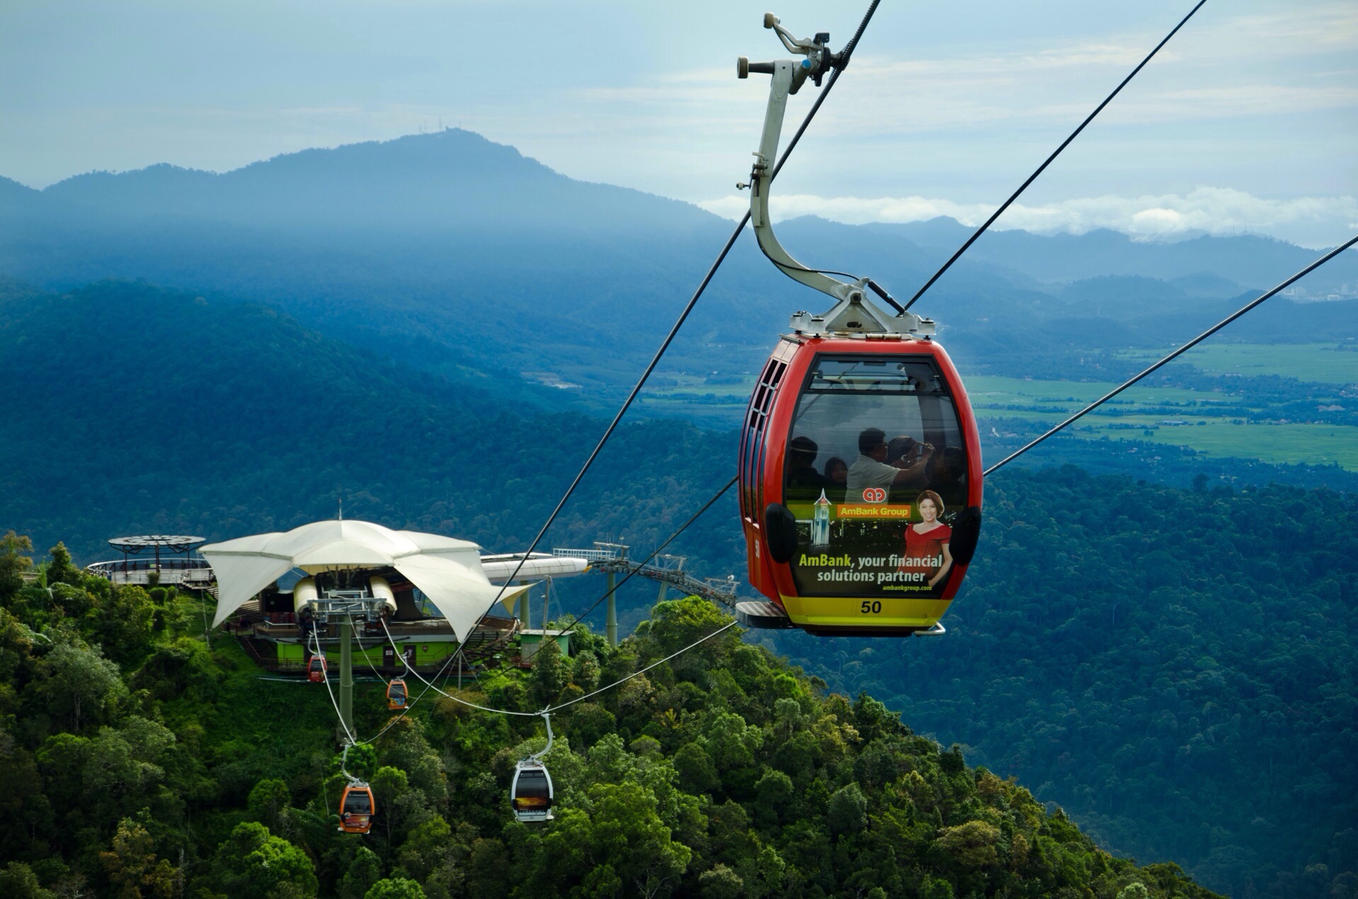
[[[887,414],[875,420],[873,403]],[[835,426],[822,424],[818,430],[815,420],[831,418],[837,407]],[[910,416],[902,414],[907,411]],[[947,444],[936,448],[942,455],[932,456],[929,469],[947,488],[941,481],[930,483],[922,469],[915,485],[856,489],[849,496],[851,485],[822,490],[826,475],[816,471],[809,493],[789,496],[786,466],[799,452],[790,441],[803,440],[800,452],[818,452],[822,464],[830,450],[839,450],[834,455],[849,467],[850,460],[860,464],[862,459],[856,435],[868,433],[868,425],[884,432],[887,440],[917,430],[910,436],[918,439],[918,452],[925,452],[923,444]],[[812,448],[816,436],[822,440]],[[947,471],[940,475],[944,459]],[[827,636],[906,636],[932,627],[937,633],[934,626],[957,593],[975,549],[982,497],[976,420],[942,346],[903,335],[781,338],[746,411],[739,483],[750,583],[781,607],[792,625]],[[930,490],[934,486],[940,490]],[[822,490],[820,497],[812,497],[816,490]],[[841,494],[830,496],[835,490]],[[921,550],[909,549],[906,530],[919,521],[926,502],[933,502],[925,492],[930,497],[945,493],[936,505],[947,505],[947,512],[936,509],[936,515],[951,521],[947,570],[944,565],[930,568],[941,554],[911,558]],[[937,551],[938,545],[932,546]],[[917,565],[921,561],[923,565]],[[930,584],[932,577],[937,584]]]

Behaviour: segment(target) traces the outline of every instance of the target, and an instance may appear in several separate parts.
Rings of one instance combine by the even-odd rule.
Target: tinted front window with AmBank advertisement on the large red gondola
[[[967,501],[966,443],[933,360],[822,356],[784,467],[803,596],[937,596]]]

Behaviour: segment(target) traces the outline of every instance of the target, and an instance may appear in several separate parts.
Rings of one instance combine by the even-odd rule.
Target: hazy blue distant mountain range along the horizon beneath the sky
[[[448,129],[220,175],[152,166],[42,191],[0,181],[0,274],[61,289],[147,278],[265,301],[416,365],[483,376],[492,390],[520,372],[577,383],[585,390],[562,398],[588,405],[633,383],[731,227],[690,204],[573,181]],[[970,230],[948,219],[799,219],[779,234],[807,263],[872,274],[909,296]],[[1306,289],[1358,292],[1358,254],[1348,255]],[[1167,244],[1108,231],[994,232],[915,308],[941,323],[970,367],[1078,376],[1074,360],[1089,350],[1180,342],[1225,314],[1228,300],[1313,257],[1260,238]],[[661,379],[752,371],[790,312],[826,304],[778,274],[747,235]],[[1313,340],[1317,322],[1327,335],[1358,334],[1354,304],[1271,306],[1224,340]]]

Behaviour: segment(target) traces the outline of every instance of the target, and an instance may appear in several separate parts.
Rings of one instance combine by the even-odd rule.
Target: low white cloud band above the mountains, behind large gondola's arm
[[[925,221],[937,216],[979,225],[994,206],[959,204],[928,197],[816,197],[812,194],[774,196],[773,213],[779,219],[815,215],[846,224],[869,221]],[[722,197],[699,202],[703,209],[737,219],[748,198]],[[1351,236],[1358,220],[1354,197],[1297,197],[1268,200],[1228,187],[1198,187],[1187,196],[1080,197],[1040,206],[1014,204],[995,230],[1024,230],[1039,234],[1085,234],[1111,228],[1134,238],[1156,240],[1192,234],[1268,234],[1305,246],[1334,246]]]

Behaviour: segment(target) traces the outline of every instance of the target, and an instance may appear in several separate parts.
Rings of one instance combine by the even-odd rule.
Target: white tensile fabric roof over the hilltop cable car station
[[[390,565],[410,579],[463,641],[496,600],[512,608],[527,587],[494,587],[481,568],[481,547],[437,534],[392,531],[371,521],[314,521],[284,534],[257,534],[198,550],[217,576],[220,625],[231,612],[293,568],[308,574]]]

